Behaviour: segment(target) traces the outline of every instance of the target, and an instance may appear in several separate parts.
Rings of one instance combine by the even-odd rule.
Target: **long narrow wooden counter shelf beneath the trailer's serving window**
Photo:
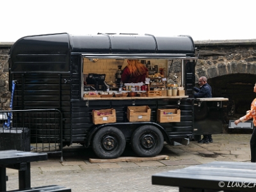
[[[136,100],[136,99],[184,99],[188,95],[156,96],[156,97],[83,97],[83,100]]]

